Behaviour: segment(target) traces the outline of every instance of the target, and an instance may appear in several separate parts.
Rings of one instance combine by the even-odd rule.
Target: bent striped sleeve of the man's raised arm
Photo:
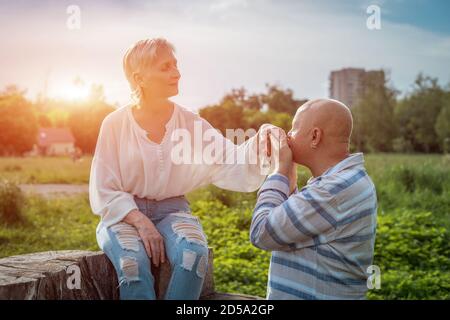
[[[272,175],[258,192],[250,227],[251,243],[263,250],[290,251],[326,241],[337,222],[333,199],[308,186],[288,197],[289,181]]]

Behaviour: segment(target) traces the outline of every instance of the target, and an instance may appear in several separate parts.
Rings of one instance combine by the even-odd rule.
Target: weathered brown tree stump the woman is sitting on
[[[200,298],[214,296],[212,250]],[[158,299],[170,279],[170,265],[153,268]],[[79,281],[77,283],[77,275]],[[79,288],[77,288],[79,285]],[[0,259],[0,299],[119,299],[113,265],[101,252],[47,251]]]

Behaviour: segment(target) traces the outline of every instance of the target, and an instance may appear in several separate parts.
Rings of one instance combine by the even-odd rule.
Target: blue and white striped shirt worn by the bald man
[[[362,153],[289,196],[289,180],[258,191],[250,240],[272,251],[268,299],[364,299],[376,231],[375,186]]]

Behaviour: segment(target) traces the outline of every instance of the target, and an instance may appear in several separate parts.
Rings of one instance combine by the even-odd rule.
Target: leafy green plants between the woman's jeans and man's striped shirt
[[[251,206],[237,209],[219,200],[197,200],[192,210],[214,250],[217,291],[265,297],[270,253],[250,243]]]

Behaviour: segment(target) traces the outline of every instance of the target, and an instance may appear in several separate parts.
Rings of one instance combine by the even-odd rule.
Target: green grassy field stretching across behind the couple
[[[89,166],[90,158],[78,163],[0,158],[0,175],[22,183],[86,183]],[[450,158],[374,154],[366,157],[366,167],[379,199],[374,263],[382,272],[381,289],[371,290],[368,298],[450,299]],[[299,169],[298,176],[302,186],[309,172]],[[210,186],[188,198],[214,248],[217,289],[265,296],[269,254],[248,241],[255,193]],[[22,223],[0,225],[0,256],[97,250],[98,218],[90,212],[87,195],[30,196],[22,211]]]

